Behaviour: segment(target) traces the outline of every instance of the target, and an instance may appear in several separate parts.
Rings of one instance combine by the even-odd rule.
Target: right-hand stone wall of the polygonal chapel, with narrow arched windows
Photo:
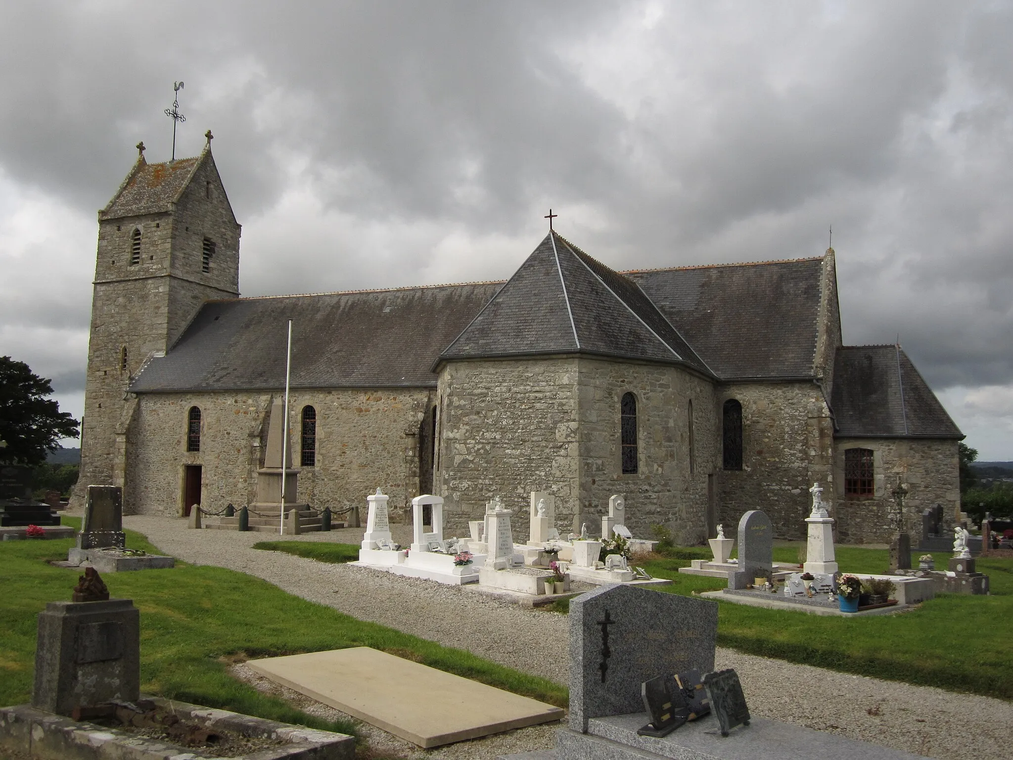
[[[717,456],[713,384],[678,367],[656,364],[581,358],[578,372],[580,520],[589,531],[601,532],[609,497],[622,493],[626,524],[634,536],[650,538],[651,526],[658,524],[672,531],[677,543],[703,541],[707,476]],[[637,400],[635,474],[624,474],[620,459],[620,401],[627,392]]]

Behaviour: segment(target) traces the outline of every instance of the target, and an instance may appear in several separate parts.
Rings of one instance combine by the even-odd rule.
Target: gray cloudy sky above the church
[[[822,253],[844,339],[905,350],[1013,460],[1013,2],[0,5],[0,355],[80,415],[95,211],[183,80],[244,295]]]

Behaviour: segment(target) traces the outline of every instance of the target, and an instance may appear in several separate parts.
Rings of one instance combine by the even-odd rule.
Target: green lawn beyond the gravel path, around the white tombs
[[[777,545],[774,559],[797,562],[800,544]],[[270,541],[257,547],[289,551],[326,562],[358,557],[352,544]],[[885,549],[836,547],[841,568],[882,574]],[[914,552],[917,556],[918,552]],[[676,547],[644,563],[655,578],[673,581],[658,590],[692,596],[725,587],[721,579],[681,575],[691,559],[709,559],[703,547]],[[948,552],[934,553],[945,567]],[[939,686],[950,691],[1013,698],[1013,559],[979,559],[978,569],[991,578],[991,596],[943,594],[918,609],[875,617],[821,617],[721,602],[717,640],[741,652],[794,663],[874,676],[892,681]],[[566,600],[550,611],[566,612]]]

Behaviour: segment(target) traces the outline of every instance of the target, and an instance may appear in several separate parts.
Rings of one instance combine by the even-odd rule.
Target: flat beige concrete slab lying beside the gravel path
[[[563,710],[369,647],[246,665],[419,747],[559,720]]]

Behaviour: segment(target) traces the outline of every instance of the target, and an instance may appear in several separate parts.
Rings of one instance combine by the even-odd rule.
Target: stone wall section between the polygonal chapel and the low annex
[[[811,382],[724,385],[716,393],[716,420],[728,398],[743,405],[743,469],[719,472],[718,512],[725,535],[728,528],[734,531],[743,513],[763,510],[775,536],[804,538],[808,488],[814,481],[830,482],[833,475],[833,424],[823,392]]]

